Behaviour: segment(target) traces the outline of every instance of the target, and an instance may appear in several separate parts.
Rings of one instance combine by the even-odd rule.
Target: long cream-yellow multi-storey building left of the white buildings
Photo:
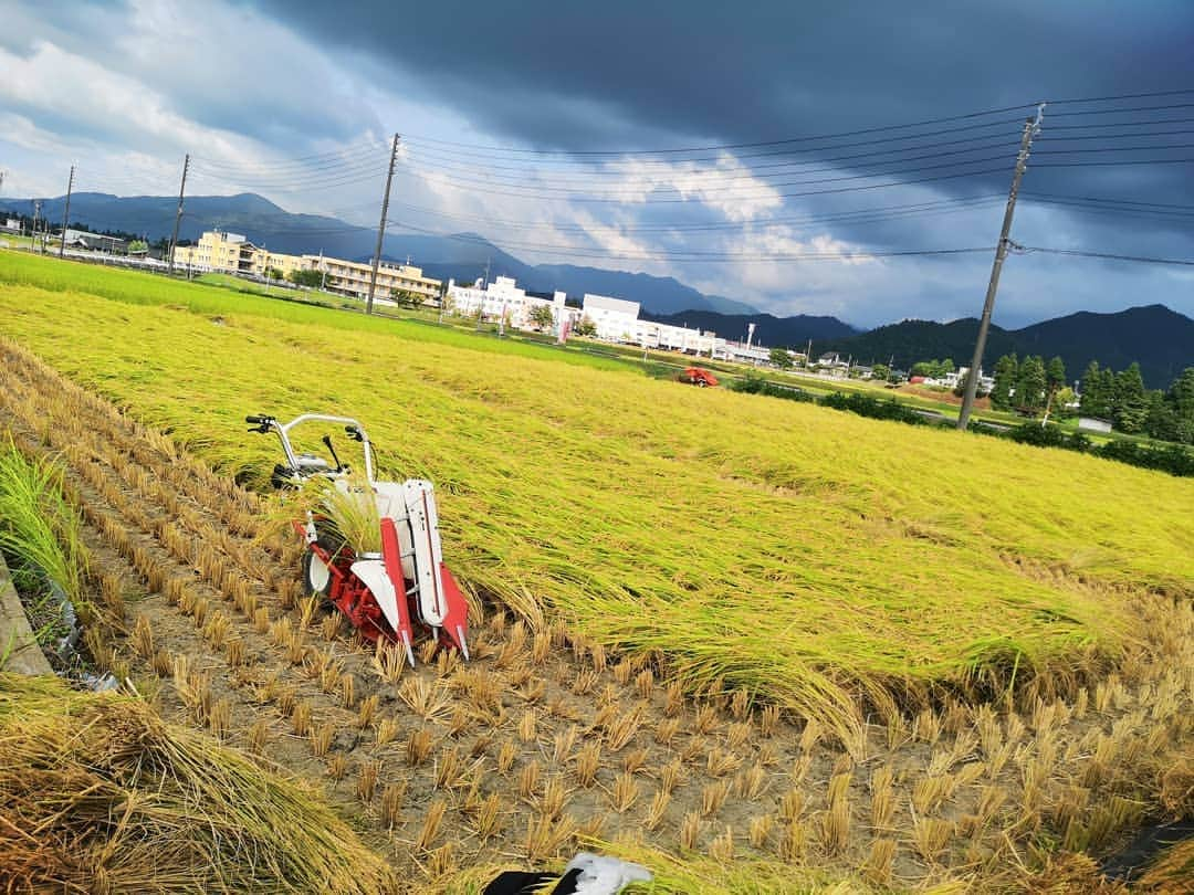
[[[330,292],[364,298],[369,295],[371,265],[324,255],[288,255],[254,246],[239,233],[209,230],[197,245],[174,249],[174,266],[222,273],[264,277],[270,268],[283,277],[294,271],[320,271]],[[382,261],[377,267],[377,298],[392,298],[396,292],[420,296],[423,301],[439,297],[439,280],[424,277],[419,267]]]

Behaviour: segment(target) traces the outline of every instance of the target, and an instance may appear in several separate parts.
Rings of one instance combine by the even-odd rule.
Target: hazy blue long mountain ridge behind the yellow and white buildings
[[[42,214],[62,220],[64,198],[47,199]],[[32,214],[29,199],[6,199],[0,209]],[[174,227],[178,198],[171,196],[117,197],[106,193],[74,193],[70,221],[98,229],[127,230],[158,240]],[[290,254],[324,252],[337,258],[365,260],[373,257],[377,232],[353,227],[334,217],[295,215],[254,193],[239,196],[187,196],[179,239],[197,240],[204,230],[220,228],[245,234],[252,242]],[[571,296],[585,292],[613,295],[639,302],[645,309],[670,314],[685,308],[751,313],[756,309],[721,296],[706,296],[673,279],[646,273],[578,267],[571,264],[529,265],[503,252],[474,233],[451,236],[387,234],[386,258],[411,261],[431,277],[473,282],[485,274],[509,276],[531,291],[562,289]]]

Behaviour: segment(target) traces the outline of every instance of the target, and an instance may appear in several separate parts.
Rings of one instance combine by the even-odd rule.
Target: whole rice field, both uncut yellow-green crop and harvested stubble
[[[1189,482],[4,253],[0,313],[0,431],[81,511],[98,667],[413,891],[581,847],[654,893],[1093,890],[1189,811]],[[472,661],[405,669],[300,592],[233,477],[276,459],[245,413],[312,405],[437,482]]]

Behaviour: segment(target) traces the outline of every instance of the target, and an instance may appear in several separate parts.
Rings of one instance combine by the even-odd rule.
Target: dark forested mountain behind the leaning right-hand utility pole
[[[973,317],[950,323],[905,320],[868,333],[823,344],[821,350],[850,353],[862,363],[888,363],[907,369],[917,360],[953,358],[970,364],[974,352],[978,321]],[[814,353],[818,351],[814,346]],[[1022,329],[991,326],[984,366],[991,370],[1002,354],[1040,354],[1046,360],[1060,357],[1070,379],[1082,376],[1087,364],[1122,370],[1132,362],[1150,388],[1165,388],[1187,366],[1194,366],[1194,320],[1167,308],[1150,304],[1114,314],[1079,311],[1045,320]]]

